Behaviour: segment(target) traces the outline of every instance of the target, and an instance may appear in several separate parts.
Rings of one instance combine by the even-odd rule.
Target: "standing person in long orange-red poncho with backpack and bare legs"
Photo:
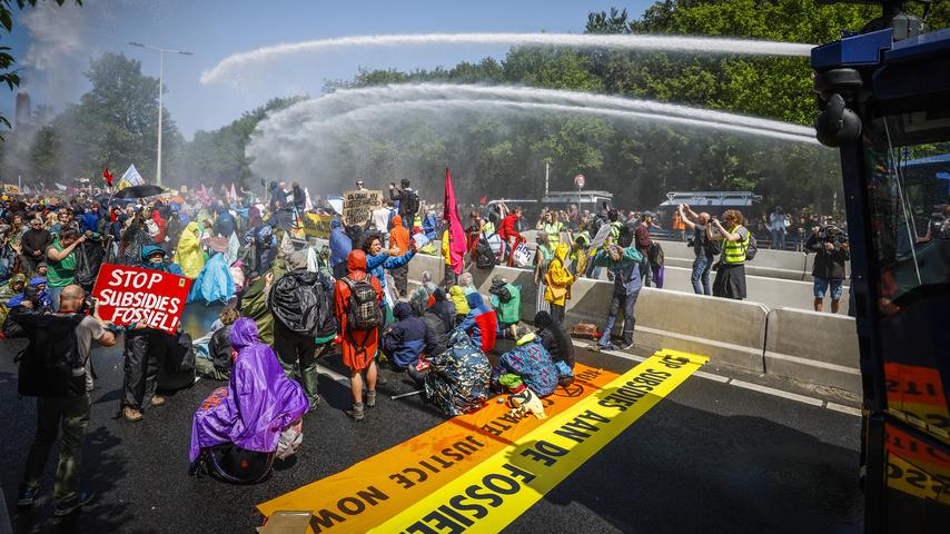
[[[383,287],[366,271],[366,254],[356,249],[346,258],[347,275],[336,281],[334,310],[339,323],[343,363],[349,367],[353,409],[346,415],[365,417],[364,407],[376,406],[376,350],[383,323]],[[366,372],[366,404],[363,399],[363,372]]]

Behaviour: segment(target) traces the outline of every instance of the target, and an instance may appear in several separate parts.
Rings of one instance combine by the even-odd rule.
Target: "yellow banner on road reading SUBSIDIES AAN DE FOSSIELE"
[[[502,531],[707,359],[654,354],[370,532]]]

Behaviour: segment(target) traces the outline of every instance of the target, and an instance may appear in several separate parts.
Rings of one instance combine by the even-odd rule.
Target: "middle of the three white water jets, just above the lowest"
[[[801,125],[778,120],[728,113],[689,106],[680,106],[651,100],[593,95],[558,89],[537,89],[515,86],[476,86],[455,83],[390,83],[359,89],[342,89],[311,100],[317,109],[339,113],[345,110],[365,107],[379,101],[439,100],[462,98],[527,101],[537,103],[560,103],[577,107],[620,109],[650,113],[705,120],[724,125],[745,126],[761,130],[786,132],[796,136],[813,137],[814,131]],[[336,109],[339,108],[339,109]],[[315,109],[316,112],[316,109]]]

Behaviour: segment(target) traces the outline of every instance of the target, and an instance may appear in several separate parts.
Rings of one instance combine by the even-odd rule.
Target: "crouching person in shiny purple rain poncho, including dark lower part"
[[[275,456],[293,455],[303,441],[309,403],[300,385],[284,374],[277,355],[257,336],[247,317],[230,334],[237,357],[228,386],[215,389],[195,413],[188,459],[229,482],[257,482]]]

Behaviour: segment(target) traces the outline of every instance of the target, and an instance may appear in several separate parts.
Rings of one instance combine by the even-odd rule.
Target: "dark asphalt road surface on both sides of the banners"
[[[195,336],[216,309],[189,307]],[[199,380],[169,395],[140,423],[115,418],[121,348],[93,353],[99,379],[82,471],[96,500],[52,517],[49,462],[40,504],[17,510],[17,483],[34,431],[34,400],[17,397],[21,342],[0,340],[0,484],[18,533],[250,533],[255,505],[331,475],[446,419],[406,377],[380,386],[363,423],[344,414],[348,387],[321,375],[321,405],[304,419],[304,445],[264,483],[232,486],[187,474],[191,414],[224,383]],[[646,355],[646,350],[640,352]],[[636,363],[581,350],[586,365],[624,372]],[[337,355],[320,364],[345,374]],[[744,377],[743,377],[744,378]],[[515,520],[512,533],[861,532],[860,418],[693,376]]]

